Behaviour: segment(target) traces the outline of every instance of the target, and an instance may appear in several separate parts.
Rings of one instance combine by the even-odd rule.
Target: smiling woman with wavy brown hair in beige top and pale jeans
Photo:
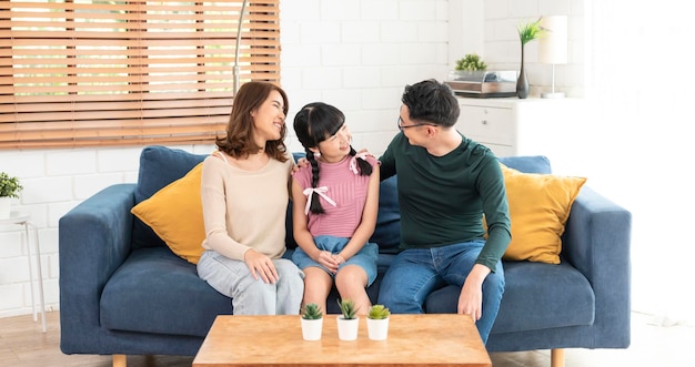
[[[205,223],[199,276],[232,298],[236,315],[298,315],[303,274],[289,259],[285,215],[293,161],[283,139],[288,96],[268,82],[243,84],[226,136],[203,163]]]

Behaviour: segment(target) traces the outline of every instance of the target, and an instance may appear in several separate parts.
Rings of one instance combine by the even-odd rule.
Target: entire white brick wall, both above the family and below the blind
[[[381,153],[396,132],[403,86],[444,80],[453,62],[479,52],[491,67],[516,69],[515,22],[550,1],[283,0],[282,85],[294,112],[313,101],[345,112],[355,147]],[[484,14],[484,21],[481,17]],[[476,27],[466,27],[474,24]],[[484,29],[479,29],[485,24]],[[493,24],[493,26],[491,26]],[[488,34],[494,27],[496,33]],[[503,27],[507,29],[502,30]],[[504,47],[497,47],[501,43]],[[472,45],[490,49],[473,50]],[[531,73],[531,72],[530,72]],[[532,79],[532,83],[533,83]],[[560,80],[560,78],[558,78]],[[302,150],[289,129],[291,150]],[[207,153],[210,146],[183,146]],[[0,170],[21,177],[17,208],[39,227],[46,303],[59,306],[58,221],[108,185],[135,182],[141,147],[0,151]],[[0,317],[31,312],[26,243],[21,230],[0,231]]]

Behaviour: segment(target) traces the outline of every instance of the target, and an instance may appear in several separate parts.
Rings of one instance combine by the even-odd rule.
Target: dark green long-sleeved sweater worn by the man
[[[504,176],[495,155],[465,136],[443,156],[411,145],[402,133],[381,156],[381,180],[397,174],[401,248],[485,238],[476,264],[494,271],[511,239]]]

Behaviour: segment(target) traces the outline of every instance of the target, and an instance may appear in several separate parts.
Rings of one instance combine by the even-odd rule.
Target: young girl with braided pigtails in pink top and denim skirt
[[[366,287],[376,277],[377,246],[367,241],[376,226],[379,165],[356,154],[345,115],[336,108],[310,103],[294,118],[294,131],[311,166],[292,180],[293,231],[299,244],[292,261],[304,271],[302,306],[325,302],[335,282],[341,298],[357,314],[371,300]]]

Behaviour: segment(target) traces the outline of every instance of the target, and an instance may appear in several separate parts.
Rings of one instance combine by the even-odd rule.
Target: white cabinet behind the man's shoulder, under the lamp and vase
[[[586,111],[582,101],[459,98],[456,130],[497,156],[545,155],[553,161],[553,155],[566,155],[575,143],[581,144]]]

